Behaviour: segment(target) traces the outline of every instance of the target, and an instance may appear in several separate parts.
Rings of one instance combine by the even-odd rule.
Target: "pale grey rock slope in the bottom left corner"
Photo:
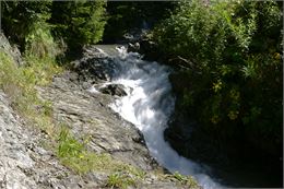
[[[28,129],[0,91],[0,188],[80,188],[83,178],[40,146],[46,135]],[[97,187],[98,181],[88,181]]]

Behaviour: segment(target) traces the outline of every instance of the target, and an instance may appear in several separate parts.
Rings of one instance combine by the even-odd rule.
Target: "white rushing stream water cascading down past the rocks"
[[[141,60],[138,54],[128,54],[123,47],[118,50],[115,61],[120,69],[116,70],[111,83],[125,85],[127,96],[116,99],[110,107],[142,131],[151,155],[163,167],[171,173],[192,175],[205,189],[221,188],[205,174],[203,166],[178,155],[164,140],[164,130],[175,107],[169,68]]]

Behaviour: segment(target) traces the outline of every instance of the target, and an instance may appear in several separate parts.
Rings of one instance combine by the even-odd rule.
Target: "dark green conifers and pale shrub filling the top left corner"
[[[3,31],[20,45],[22,52],[55,57],[64,52],[66,43],[70,51],[103,37],[105,1],[3,1],[2,4]]]

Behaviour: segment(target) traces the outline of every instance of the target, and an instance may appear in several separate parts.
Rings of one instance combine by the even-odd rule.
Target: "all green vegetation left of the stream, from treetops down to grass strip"
[[[92,170],[103,172],[110,175],[109,180],[111,180],[114,174],[123,172],[125,177],[120,178],[119,182],[108,181],[106,185],[135,185],[139,179],[143,179],[142,170],[117,162],[109,154],[96,154],[87,151],[85,149],[87,140],[79,141],[69,132],[67,127],[55,123],[52,120],[52,103],[43,101],[37,95],[37,86],[49,84],[52,76],[62,71],[62,68],[58,66],[61,62],[58,62],[56,58],[61,56],[66,49],[60,46],[60,40],[55,38],[62,37],[72,48],[96,43],[103,35],[105,21],[99,19],[103,16],[102,12],[104,12],[103,1],[64,2],[60,4],[62,7],[52,9],[55,16],[52,23],[61,22],[55,26],[49,23],[51,1],[44,3],[4,1],[4,32],[12,42],[20,45],[25,63],[22,67],[16,66],[11,55],[1,50],[0,87],[9,96],[12,107],[25,119],[27,125],[48,134],[50,141],[47,145],[55,151],[67,167],[78,174]],[[62,17],[59,17],[56,12],[61,9],[67,10],[67,12],[60,15]],[[21,14],[17,14],[19,12]],[[73,27],[64,25],[69,22],[73,24]],[[54,33],[57,35],[52,35]],[[132,181],[127,181],[129,179]]]

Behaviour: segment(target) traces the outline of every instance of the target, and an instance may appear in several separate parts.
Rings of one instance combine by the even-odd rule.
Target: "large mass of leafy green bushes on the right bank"
[[[213,135],[280,154],[282,16],[273,1],[180,2],[153,33],[169,59],[192,62],[180,71],[178,108]]]

